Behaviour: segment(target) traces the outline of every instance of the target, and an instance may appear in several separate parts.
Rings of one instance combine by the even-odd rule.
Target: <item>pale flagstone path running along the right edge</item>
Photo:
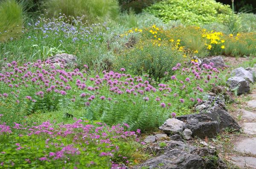
[[[254,91],[256,93],[256,91]],[[256,169],[256,94],[250,94],[252,100],[247,101],[248,110],[239,109],[242,114],[241,131],[234,146],[236,155],[232,162],[241,169]]]

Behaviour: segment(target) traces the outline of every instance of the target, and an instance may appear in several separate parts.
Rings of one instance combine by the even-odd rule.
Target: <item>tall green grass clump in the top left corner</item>
[[[16,0],[0,2],[0,42],[20,36],[23,23],[23,9]]]

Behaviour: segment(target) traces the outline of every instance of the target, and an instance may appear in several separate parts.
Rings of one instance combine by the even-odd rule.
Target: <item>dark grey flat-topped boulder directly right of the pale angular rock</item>
[[[214,121],[204,113],[189,114],[177,117],[185,123],[185,128],[192,131],[192,137],[213,138],[219,132],[218,121]]]

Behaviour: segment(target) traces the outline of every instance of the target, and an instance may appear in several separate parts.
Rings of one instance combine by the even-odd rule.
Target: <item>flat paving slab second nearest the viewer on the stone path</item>
[[[244,138],[236,143],[235,151],[252,153],[256,155],[256,138]]]

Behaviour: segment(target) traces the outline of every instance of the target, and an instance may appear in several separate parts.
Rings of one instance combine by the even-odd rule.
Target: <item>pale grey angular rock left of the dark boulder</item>
[[[169,118],[159,127],[159,129],[166,134],[179,134],[183,130],[183,125],[183,121],[176,118]]]

